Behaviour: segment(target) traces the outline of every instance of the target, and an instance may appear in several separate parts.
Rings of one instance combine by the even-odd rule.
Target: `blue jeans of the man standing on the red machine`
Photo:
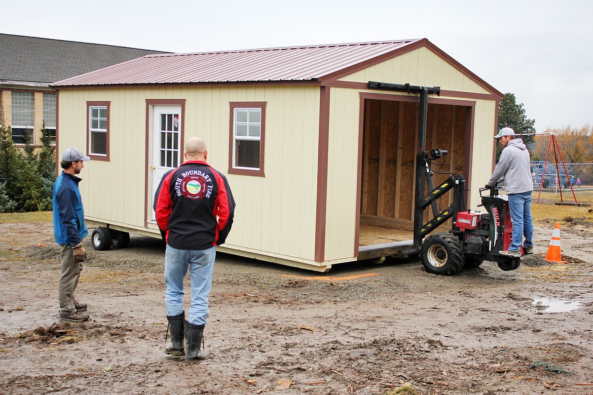
[[[523,247],[533,246],[533,218],[531,217],[531,192],[508,194],[509,210],[513,223],[513,240],[509,250],[517,251]],[[523,236],[525,242],[523,243]]]

